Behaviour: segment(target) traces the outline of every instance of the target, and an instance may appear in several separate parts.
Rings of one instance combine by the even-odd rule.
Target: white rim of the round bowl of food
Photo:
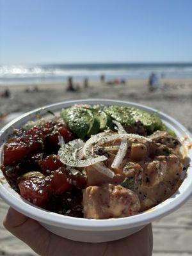
[[[63,104],[88,104],[94,102],[100,102],[100,104],[127,104],[129,106],[136,106],[139,108],[146,109],[148,111],[154,111],[157,112],[159,115],[164,116],[164,118],[170,120],[173,124],[176,126],[179,126],[180,129],[188,136],[189,140],[192,141],[192,136],[188,129],[186,129],[182,124],[177,122],[174,118],[172,118],[169,115],[166,115],[165,113],[161,111],[157,111],[157,109],[147,107],[143,104],[137,104],[134,102],[129,102],[125,100],[111,100],[111,99],[81,99],[81,100],[67,100],[63,102],[58,102],[55,104],[50,104],[47,106],[44,106],[42,108],[36,108],[32,111],[29,111],[8,124],[6,124],[0,131],[0,143],[1,143],[1,136],[2,134],[13,124],[18,122],[19,120],[22,120],[26,118],[26,116],[29,116],[31,114],[34,114],[38,111],[46,110],[52,107],[60,106]],[[63,107],[61,107],[63,108]],[[188,168],[192,172],[192,167]],[[0,170],[1,172],[1,170]],[[0,173],[1,174],[1,173]],[[187,178],[185,178],[187,179]],[[94,230],[94,231],[100,231],[100,230],[122,230],[126,228],[132,228],[132,227],[138,227],[141,225],[147,225],[148,223],[157,220],[158,218],[162,218],[165,215],[170,214],[171,212],[178,209],[182,204],[184,204],[189,197],[192,195],[192,180],[191,186],[188,186],[188,188],[184,191],[184,193],[180,193],[179,196],[174,198],[171,202],[164,205],[164,207],[160,207],[155,209],[149,209],[148,211],[141,212],[140,214],[136,214],[134,216],[129,216],[125,218],[113,218],[113,219],[106,219],[106,220],[88,220],[84,218],[75,218],[70,216],[63,216],[61,214],[57,214],[56,212],[49,212],[45,209],[41,209],[40,207],[36,207],[35,205],[29,203],[27,200],[24,200],[21,196],[18,197],[18,193],[15,192],[12,188],[6,189],[3,184],[0,182],[0,196],[3,198],[3,200],[8,203],[10,206],[12,206],[17,211],[21,212],[22,214],[25,214],[26,216],[29,216],[30,218],[33,218],[37,221],[47,223],[49,225],[54,225],[56,227],[65,227],[73,230]],[[7,183],[7,182],[6,182]],[[17,196],[16,196],[17,194]],[[170,198],[173,198],[177,194],[177,191],[170,196]],[[169,198],[168,198],[169,199]],[[168,200],[167,199],[167,200]],[[166,202],[165,200],[164,202]],[[159,205],[163,205],[164,202],[160,203]]]

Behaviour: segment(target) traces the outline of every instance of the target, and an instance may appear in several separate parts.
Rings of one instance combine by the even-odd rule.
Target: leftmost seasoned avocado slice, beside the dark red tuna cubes
[[[70,130],[82,140],[99,131],[99,122],[90,109],[78,107],[63,109],[61,118],[67,123]]]

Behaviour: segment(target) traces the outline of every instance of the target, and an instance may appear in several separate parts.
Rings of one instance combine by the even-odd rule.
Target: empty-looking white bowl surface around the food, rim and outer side
[[[157,112],[164,124],[175,131],[179,138],[186,136],[186,143],[192,141],[191,134],[183,125],[179,124],[179,122],[174,120],[172,117],[165,115],[156,109],[148,108],[132,102],[93,99],[60,102],[45,106],[44,108],[35,109],[34,111],[16,118],[0,131],[0,147],[3,145],[4,141],[8,139],[8,136],[12,134],[13,127],[20,128],[29,120],[35,120],[37,114],[47,116],[47,110],[51,110],[55,113],[60,111],[62,108],[68,108],[74,104],[105,104],[107,106],[116,104],[118,106],[134,106],[142,108],[150,113]],[[192,150],[189,150],[189,158],[191,157]],[[22,214],[39,221],[42,226],[58,236],[66,237],[74,241],[92,243],[113,241],[129,236],[134,232],[138,232],[138,230],[145,227],[148,223],[162,218],[163,216],[166,216],[178,209],[192,194],[192,168],[189,167],[186,177],[177,192],[156,207],[126,218],[88,220],[63,216],[54,212],[46,211],[40,207],[36,207],[16,193],[3,178],[3,173],[0,170],[0,195],[7,204],[11,205],[17,211],[22,212]]]

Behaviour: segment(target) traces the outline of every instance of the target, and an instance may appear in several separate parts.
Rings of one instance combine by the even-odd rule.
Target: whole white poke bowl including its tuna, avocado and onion
[[[102,106],[101,110],[100,106]],[[134,123],[137,124],[137,130],[133,131],[131,129],[130,131],[127,131],[126,129],[124,129],[124,120],[122,121],[123,125],[120,122],[120,113],[117,112],[115,118],[114,115],[112,115],[111,112],[109,112],[109,110],[111,111],[111,106],[115,106],[115,111],[119,111],[119,109],[121,109],[121,111],[122,109],[131,109],[131,111],[132,109],[134,109],[134,111],[135,109],[139,109],[139,111],[141,111],[139,112],[139,116],[140,113],[142,113],[142,116],[147,116],[147,121],[143,121],[142,119],[138,122],[138,119],[140,119],[140,117],[138,117],[138,112],[136,112],[136,114],[134,112],[134,115],[137,118],[137,122]],[[68,112],[66,111],[66,109],[71,108],[72,111],[74,111],[74,108],[81,108],[81,113],[78,113],[74,118],[74,113],[71,114],[70,110]],[[98,108],[99,117],[98,112],[95,112],[96,110],[98,111]],[[106,110],[103,108],[108,109]],[[93,118],[91,112],[94,114],[93,116],[97,115],[97,117]],[[104,115],[102,114],[102,116],[100,117],[100,113],[103,112]],[[89,116],[88,119],[82,121],[82,116],[84,115],[84,113],[88,113]],[[67,115],[70,117],[73,116],[74,122],[72,124],[76,124],[76,127],[78,126],[76,121],[77,117],[79,116],[78,118],[81,121],[81,124],[79,125],[78,129],[76,129],[76,127],[72,127],[71,123],[67,124],[67,127],[69,127],[70,129],[66,133],[66,130],[64,129],[66,127],[60,127],[60,125],[58,125],[57,123],[56,129],[60,129],[60,131],[64,131],[64,133],[67,134],[67,141],[65,140],[66,137],[63,136],[62,132],[59,133],[59,136],[58,133],[56,133],[57,136],[55,136],[55,134],[54,136],[50,136],[49,134],[49,140],[47,139],[48,137],[46,137],[46,144],[44,141],[43,145],[43,148],[48,148],[46,149],[46,156],[43,156],[42,149],[38,151],[38,146],[36,146],[37,144],[30,144],[31,139],[29,141],[24,141],[26,140],[26,137],[25,139],[22,138],[22,143],[28,143],[28,156],[30,155],[31,157],[31,152],[29,152],[30,147],[37,148],[37,150],[35,149],[35,153],[38,154],[33,154],[31,159],[33,159],[33,161],[38,161],[38,164],[40,166],[38,168],[41,168],[41,170],[43,171],[38,171],[35,169],[33,170],[33,167],[31,166],[34,166],[34,164],[31,162],[30,159],[30,161],[28,161],[29,169],[25,169],[25,171],[22,170],[21,173],[17,175],[17,179],[15,179],[15,173],[18,170],[18,172],[20,172],[19,164],[21,164],[21,166],[23,166],[22,164],[24,164],[23,159],[25,159],[26,157],[26,151],[25,153],[23,153],[22,147],[21,149],[19,149],[19,152],[21,152],[20,156],[22,156],[21,163],[17,159],[15,152],[13,152],[14,154],[6,157],[8,149],[11,148],[12,150],[15,147],[15,141],[13,141],[12,138],[14,132],[16,131],[16,135],[14,135],[16,137],[14,137],[14,140],[17,140],[17,138],[23,136],[23,132],[26,136],[26,133],[28,133],[28,131],[33,131],[32,133],[30,133],[30,136],[32,138],[36,138],[36,128],[34,129],[34,127],[36,127],[37,124],[47,125],[47,122],[52,120],[52,118],[54,118],[55,120],[55,118],[60,118],[58,117],[60,115],[61,117],[63,117],[65,125],[68,120],[66,117]],[[108,117],[106,118],[106,116],[109,116],[111,119]],[[158,134],[158,129],[155,128],[156,125],[152,125],[151,122],[149,122],[150,116],[152,116],[152,120],[156,120],[158,125],[160,124],[159,120],[161,120],[161,125],[163,128],[160,135]],[[98,120],[100,126],[98,125]],[[108,125],[108,129],[105,130],[104,125]],[[143,125],[144,128],[147,127],[147,130],[143,130]],[[102,129],[100,129],[101,126]],[[81,132],[79,133],[79,131]],[[140,132],[142,135],[139,135]],[[144,135],[142,132],[144,132]],[[42,138],[42,133],[44,132],[39,132],[38,140],[36,140],[36,143],[39,143],[39,138]],[[104,140],[100,138],[100,136],[104,136]],[[165,142],[167,140],[165,140],[164,137],[162,140],[162,136],[166,136],[166,139],[168,139],[169,143],[170,141],[173,142],[173,147],[170,144],[168,147],[167,145],[165,145],[166,143],[164,142],[159,143],[159,136],[161,137],[161,141]],[[107,145],[106,143],[111,141],[112,137],[114,137],[114,140],[118,141],[118,143],[113,143],[113,145],[109,143],[109,145]],[[157,137],[158,141],[156,140]],[[49,141],[49,143],[47,142],[47,140]],[[57,149],[56,151],[54,151],[54,154],[58,152],[58,155],[56,157],[59,157],[61,165],[60,163],[58,163],[58,159],[54,159],[54,164],[56,163],[57,168],[52,170],[52,164],[50,166],[50,161],[52,161],[50,159],[50,156],[52,156],[51,150],[54,146],[51,145],[54,145],[52,143],[55,143],[55,141]],[[72,141],[75,141],[75,143],[73,143]],[[100,144],[98,144],[98,141],[100,141]],[[105,144],[105,150],[107,150],[106,148],[108,148],[109,151],[116,150],[116,156],[113,156],[111,161],[109,161],[109,156],[111,156],[111,152],[102,151],[103,148],[100,148],[100,145],[102,144],[101,141],[103,144]],[[133,102],[104,99],[86,99],[59,102],[56,104],[45,106],[43,108],[35,109],[34,111],[30,111],[20,116],[19,118],[15,118],[15,120],[4,126],[3,129],[1,129],[0,196],[8,205],[13,207],[17,211],[21,212],[22,214],[29,216],[29,218],[33,218],[34,220],[38,221],[43,227],[47,228],[47,230],[51,231],[54,234],[57,234],[58,236],[65,237],[67,239],[72,239],[74,241],[90,243],[100,243],[121,239],[135,232],[138,232],[147,224],[152,223],[152,221],[158,220],[159,218],[163,218],[163,216],[170,214],[171,212],[178,209],[182,204],[184,204],[186,200],[189,199],[189,197],[192,194],[192,168],[191,166],[189,166],[190,159],[192,157],[191,142],[191,134],[182,124],[179,124],[179,122],[174,120],[172,117],[164,113],[161,113],[156,109],[148,108],[147,106],[143,106]],[[155,153],[154,148],[152,148],[151,146],[151,143],[152,145],[155,145],[158,148],[155,151]],[[10,144],[12,145],[9,148]],[[42,141],[40,141],[40,144],[42,144]],[[142,144],[142,147],[136,148],[136,145],[139,144]],[[69,146],[72,147],[72,145],[75,145],[75,147],[72,148],[72,150],[70,151]],[[79,148],[77,147],[77,145],[79,145]],[[92,150],[90,150],[90,145],[92,146]],[[95,145],[97,145],[97,147]],[[91,157],[90,152],[92,152],[93,154],[93,146],[95,147],[94,154],[96,154],[96,151],[97,154],[94,157]],[[113,147],[115,147],[115,149]],[[141,152],[140,150],[143,150],[143,147],[144,152]],[[176,147],[177,153],[175,151]],[[130,148],[131,155],[128,156],[127,154]],[[137,149],[137,151],[135,151],[136,153],[134,154],[135,148]],[[26,148],[24,149],[26,150]],[[145,149],[150,150],[150,154],[146,153],[149,151],[146,151]],[[88,153],[86,153],[86,150],[88,150]],[[139,157],[137,156],[138,150],[139,152],[141,152]],[[122,151],[124,151],[123,154]],[[80,156],[82,152],[84,152],[84,156]],[[161,152],[161,154],[159,152]],[[126,167],[129,169],[129,175],[126,174],[127,176],[125,175],[124,179],[122,180],[122,177],[120,177],[119,173],[116,173],[116,170],[120,172],[120,164],[122,164],[123,161],[125,161],[125,154],[126,156],[128,156],[127,159],[129,159],[129,168]],[[145,160],[144,161],[143,159],[140,159],[140,157],[145,156],[145,154],[147,155],[145,159],[143,158]],[[156,156],[154,156],[154,154]],[[181,156],[182,160],[180,159]],[[74,159],[72,160],[71,157],[79,157],[79,159],[78,161],[77,159],[74,161]],[[169,157],[172,158],[172,163],[174,162],[173,165],[169,165],[170,162],[166,162],[169,161]],[[99,161],[99,159],[101,162]],[[133,159],[134,166],[132,164]],[[148,159],[150,159],[150,163]],[[12,164],[10,164],[10,161],[13,161],[14,164],[17,163],[14,165],[14,168]],[[161,164],[164,165],[161,171],[159,171],[158,169],[157,177],[154,176],[154,171],[151,171],[150,167],[152,167],[152,164],[158,164],[158,168],[160,168],[159,162],[160,167]],[[45,163],[48,164],[49,168],[47,166],[46,168],[44,168]],[[91,179],[95,175],[96,171],[88,171],[88,163],[90,164],[90,166],[96,166],[98,168],[97,171],[101,173],[102,179],[105,180],[107,177],[110,181],[100,182],[100,180],[98,180],[97,178],[96,181],[95,178]],[[136,171],[138,170],[138,165],[136,165],[138,163],[141,164],[143,168],[142,170],[144,171]],[[68,166],[67,171],[63,169],[64,166],[62,164],[65,164],[65,167]],[[174,164],[176,164],[176,167]],[[24,165],[24,168],[26,168],[25,166],[26,165]],[[128,166],[127,162],[126,166]],[[148,166],[146,167],[146,170],[148,170],[147,172],[153,173],[153,176],[150,177],[151,179],[145,177],[146,186],[144,187],[145,192],[147,191],[146,193],[144,193],[142,190],[143,186],[141,188],[141,183],[144,182],[144,176],[142,175],[144,175],[143,173],[145,172],[145,168],[143,166]],[[168,168],[167,166],[170,167]],[[16,170],[15,168],[18,170]],[[86,172],[84,172],[84,168],[86,169]],[[126,168],[124,164],[124,173],[125,171],[127,172],[128,170]],[[74,179],[73,175],[77,175],[77,170],[80,170],[78,172],[80,172],[81,177],[78,176],[78,179]],[[167,170],[169,170],[169,173]],[[67,177],[67,181],[63,180],[63,178],[58,178],[58,175],[62,174],[64,171],[65,177]],[[136,172],[138,173],[136,174]],[[169,177],[168,175],[170,175],[170,172],[173,173]],[[31,173],[30,177],[28,177],[28,173]],[[88,176],[90,175],[89,173],[93,173],[91,175],[91,178]],[[164,173],[166,173],[166,175]],[[88,183],[84,182],[83,175],[85,175],[86,182]],[[104,177],[104,175],[106,175],[106,177]],[[134,175],[134,184],[132,183],[132,176],[130,175]],[[117,180],[120,179],[120,181],[114,181],[114,177],[117,177]],[[175,180],[175,183],[173,182],[173,180]],[[56,187],[56,184],[58,184],[58,182],[60,182],[59,188]],[[33,184],[33,192],[36,193],[35,195],[37,195],[38,193],[39,196],[35,199],[33,198],[33,200],[31,200],[31,194],[29,194],[30,189],[32,188],[30,187],[31,184]],[[138,185],[137,187],[136,184]],[[40,187],[42,185],[43,188]],[[132,187],[133,185],[134,188]],[[41,196],[42,193],[44,193],[45,188],[49,188],[49,190],[46,190],[46,207],[44,204],[44,199],[42,199]],[[54,193],[50,192],[53,191],[50,190],[50,188],[54,188]],[[163,192],[161,193],[161,196],[157,196],[157,192],[155,189],[164,189]],[[62,193],[62,202],[60,193]],[[72,193],[75,194],[75,199]],[[78,193],[80,193],[81,195]],[[153,194],[151,195],[151,193]],[[78,196],[76,196],[77,194]],[[99,198],[99,195],[101,195],[101,199]],[[159,198],[162,199],[159,200]],[[74,208],[69,208],[72,202],[76,202],[76,205],[75,207],[73,206]],[[68,208],[65,207],[66,205]]]

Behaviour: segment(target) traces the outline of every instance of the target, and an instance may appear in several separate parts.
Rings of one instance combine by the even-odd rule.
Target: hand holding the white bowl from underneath
[[[4,227],[42,256],[149,256],[152,255],[152,227],[117,241],[81,243],[56,236],[37,221],[10,208]]]

